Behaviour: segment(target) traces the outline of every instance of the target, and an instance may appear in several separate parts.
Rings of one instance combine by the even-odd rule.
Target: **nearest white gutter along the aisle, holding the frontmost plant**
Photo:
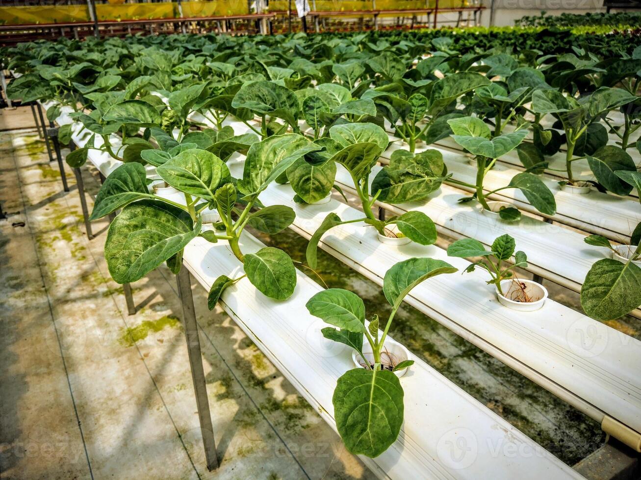
[[[56,122],[72,123],[67,112]],[[81,124],[74,122],[72,139],[79,147],[91,136],[83,130]],[[88,159],[103,175],[120,164],[97,150],[90,150]],[[249,234],[244,234],[241,244],[249,252],[264,246]],[[218,276],[233,278],[242,272],[242,264],[226,242],[212,244],[201,237],[185,247],[183,262],[206,290]],[[347,347],[323,339],[320,328],[325,324],[304,307],[320,290],[313,280],[297,271],[296,290],[286,301],[267,298],[244,278],[224,292],[221,303],[283,376],[335,428],[331,397],[338,377],[353,363]],[[428,364],[412,354],[410,358],[415,364],[402,380],[408,421],[387,451],[375,459],[362,457],[377,476],[582,478]]]

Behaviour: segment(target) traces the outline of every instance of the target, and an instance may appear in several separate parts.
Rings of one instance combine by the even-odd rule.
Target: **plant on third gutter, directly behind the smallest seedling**
[[[478,169],[476,173],[476,184],[469,184],[456,179],[448,179],[447,182],[473,189],[474,197],[476,197],[476,200],[478,200],[479,204],[481,204],[485,210],[490,210],[490,206],[487,203],[487,196],[505,189],[516,188],[523,193],[530,204],[538,211],[547,215],[554,215],[556,213],[554,195],[544,182],[533,173],[517,173],[517,175],[510,180],[510,184],[487,193],[485,193],[485,189],[483,188],[485,176],[490,172],[496,160],[516,148],[527,136],[527,129],[522,128],[492,138],[492,132],[490,132],[489,127],[479,118],[465,116],[463,118],[447,120],[447,123],[454,132],[452,135],[454,141],[468,150],[472,155],[476,155]],[[520,218],[520,212],[513,207],[503,209],[499,211],[499,214],[504,220],[513,221],[519,220]]]

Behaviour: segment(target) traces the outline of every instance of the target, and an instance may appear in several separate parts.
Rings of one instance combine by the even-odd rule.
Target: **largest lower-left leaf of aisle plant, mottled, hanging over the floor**
[[[126,205],[109,226],[104,258],[113,280],[128,284],[180,252],[200,233],[187,212],[156,200]]]

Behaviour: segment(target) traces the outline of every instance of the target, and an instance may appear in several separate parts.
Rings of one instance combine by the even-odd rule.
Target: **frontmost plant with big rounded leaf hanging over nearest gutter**
[[[376,315],[366,324],[363,300],[348,290],[324,290],[307,302],[310,314],[332,325],[323,328],[322,335],[353,348],[362,359],[362,367],[338,378],[332,399],[338,433],[353,454],[378,456],[395,442],[403,424],[403,388],[395,371],[410,367],[413,360],[387,362],[392,342],[386,343],[403,298],[420,282],[455,271],[447,262],[429,258],[412,258],[392,266],[383,279],[383,293],[392,305],[385,324]],[[369,344],[370,355],[363,352],[363,339]]]

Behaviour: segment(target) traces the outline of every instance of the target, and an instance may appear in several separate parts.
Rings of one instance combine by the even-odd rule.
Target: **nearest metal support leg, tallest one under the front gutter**
[[[196,393],[196,406],[198,409],[198,420],[200,421],[201,435],[203,436],[204,456],[208,470],[218,468],[218,454],[216,452],[216,440],[213,436],[212,414],[209,410],[207,397],[207,385],[204,380],[203,356],[201,353],[200,339],[198,337],[198,324],[196,322],[196,310],[194,310],[194,298],[192,297],[192,285],[187,267],[183,264],[178,275],[178,294],[183,306],[183,327],[185,328],[185,339],[187,340],[187,353],[189,355],[189,366],[192,371],[192,382]]]

